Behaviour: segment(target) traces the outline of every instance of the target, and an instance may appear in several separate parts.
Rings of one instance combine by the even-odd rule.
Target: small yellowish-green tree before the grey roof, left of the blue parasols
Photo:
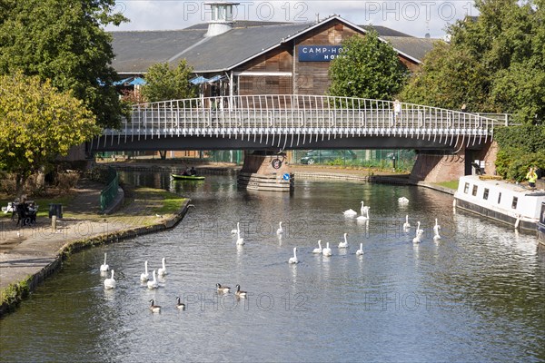
[[[196,88],[189,82],[192,77],[193,67],[185,59],[176,68],[168,63],[154,64],[145,74],[142,94],[149,102],[196,97]]]

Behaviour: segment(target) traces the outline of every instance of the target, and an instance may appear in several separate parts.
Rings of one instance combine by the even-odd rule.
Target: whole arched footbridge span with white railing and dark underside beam
[[[412,103],[279,94],[193,98],[135,105],[91,152],[229,149],[480,148],[505,115]]]

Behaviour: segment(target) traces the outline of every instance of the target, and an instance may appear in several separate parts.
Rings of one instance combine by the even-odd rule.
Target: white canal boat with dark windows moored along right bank
[[[535,232],[540,221],[545,191],[531,190],[486,176],[468,175],[460,178],[454,193],[455,206],[514,228]]]

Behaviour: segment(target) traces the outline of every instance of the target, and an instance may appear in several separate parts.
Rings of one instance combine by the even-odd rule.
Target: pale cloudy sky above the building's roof
[[[245,1],[239,0],[235,20],[313,22],[340,15],[355,25],[382,25],[413,36],[441,38],[448,25],[466,15],[478,15],[471,0],[377,1]],[[108,26],[108,31],[173,30],[205,23],[210,6],[204,1],[117,0],[115,11],[131,21]]]

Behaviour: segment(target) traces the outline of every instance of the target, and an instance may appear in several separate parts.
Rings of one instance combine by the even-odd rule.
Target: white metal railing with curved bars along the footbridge
[[[507,120],[507,119],[505,119]],[[391,101],[318,95],[248,95],[135,105],[119,130],[98,142],[164,137],[229,137],[287,147],[337,137],[386,136],[454,145],[487,142],[505,124],[477,113]],[[283,141],[283,146],[281,145]]]

